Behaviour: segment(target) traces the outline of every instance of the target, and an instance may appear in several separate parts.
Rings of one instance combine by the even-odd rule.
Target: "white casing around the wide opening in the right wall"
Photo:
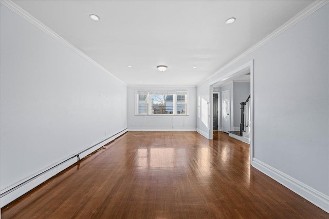
[[[223,71],[225,71],[227,68],[224,68],[223,70],[216,72],[217,75],[223,73]],[[226,73],[226,74],[221,74],[221,76],[217,77],[216,79],[214,79],[213,81],[211,81],[209,83],[209,108],[210,108],[210,113],[209,113],[209,117],[210,117],[210,121],[213,120],[212,118],[212,105],[213,105],[213,85],[216,84],[217,82],[224,82],[227,79],[230,79],[233,76],[239,75],[239,74],[244,74],[244,72],[246,70],[250,70],[250,165],[252,164],[253,161],[253,157],[254,157],[254,150],[253,150],[253,135],[254,135],[254,125],[253,125],[253,113],[254,113],[254,92],[253,92],[253,59],[251,59],[251,61],[241,65],[240,67]],[[213,139],[213,130],[212,130],[212,126],[209,126],[209,140]]]

